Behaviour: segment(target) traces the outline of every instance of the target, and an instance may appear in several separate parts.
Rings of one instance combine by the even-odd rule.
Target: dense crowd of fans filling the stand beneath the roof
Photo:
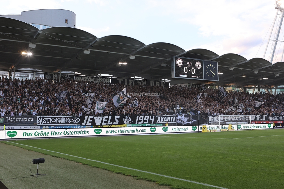
[[[132,94],[123,107],[116,108],[112,95],[120,94],[127,87]],[[60,102],[56,94],[67,90],[70,93],[72,109],[68,100]],[[1,117],[5,115],[86,115],[86,93],[95,93],[91,109],[96,101],[108,102],[103,113],[89,112],[91,115],[167,115],[177,111],[177,105],[186,112],[198,112],[201,115],[284,115],[284,95],[270,93],[229,92],[222,100],[218,98],[218,89],[194,89],[181,87],[161,87],[146,85],[107,85],[84,81],[65,80],[60,83],[45,79],[8,79],[0,82]],[[201,94],[197,97],[198,94]],[[255,99],[265,104],[254,109]],[[133,101],[138,106],[133,105]],[[234,105],[234,106],[233,106]],[[237,106],[242,107],[237,111]],[[242,112],[240,111],[242,110]]]

